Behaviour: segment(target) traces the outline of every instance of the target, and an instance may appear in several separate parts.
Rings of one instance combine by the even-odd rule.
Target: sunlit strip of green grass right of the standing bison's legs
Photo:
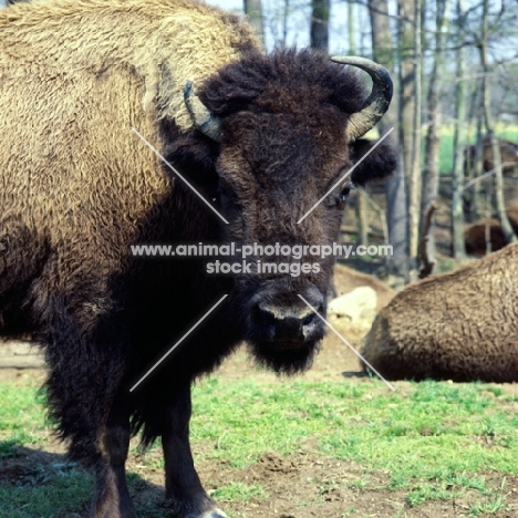
[[[210,380],[196,390],[193,443],[216,441],[210,456],[229,457],[236,467],[255,462],[260,452],[289,454],[314,437],[322,454],[366,463],[372,469],[408,473],[412,462],[419,475],[427,469],[423,455],[432,460],[437,449],[460,447],[453,458],[444,455],[449,469],[498,466],[518,473],[511,455],[518,450],[518,417],[495,411],[494,398],[484,395],[483,387],[425,382],[414,385],[411,394],[371,395],[369,384],[348,382],[263,386]],[[485,436],[501,449],[488,450],[474,442]]]

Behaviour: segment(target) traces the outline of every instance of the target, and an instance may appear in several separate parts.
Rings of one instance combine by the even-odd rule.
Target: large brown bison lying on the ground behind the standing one
[[[388,380],[518,381],[518,245],[432,276],[376,317],[362,354]]]

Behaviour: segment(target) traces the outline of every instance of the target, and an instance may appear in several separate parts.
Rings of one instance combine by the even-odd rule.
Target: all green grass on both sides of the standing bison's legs
[[[193,447],[198,459],[224,460],[235,469],[253,464],[265,453],[303,450],[311,441],[318,455],[353,460],[364,473],[348,483],[315,479],[320,495],[340,484],[369,490],[370,474],[384,473],[385,489],[403,491],[407,506],[452,500],[470,491],[478,495],[470,516],[504,509],[505,477],[518,475],[518,415],[512,411],[518,398],[498,385],[478,383],[428,381],[402,386],[390,392],[376,380],[209,379],[194,390]],[[35,388],[0,385],[0,463],[22,447],[43,448],[44,412],[35,401]],[[163,466],[156,456],[143,463],[153,469]],[[59,463],[34,469],[15,486],[0,484],[2,518],[82,509],[92,490],[90,476]],[[132,484],[138,485],[139,477],[134,478]],[[501,486],[497,494],[495,484]],[[258,484],[229,483],[214,496],[220,501],[259,501],[268,499],[268,491]],[[151,509],[141,512],[160,516]]]

